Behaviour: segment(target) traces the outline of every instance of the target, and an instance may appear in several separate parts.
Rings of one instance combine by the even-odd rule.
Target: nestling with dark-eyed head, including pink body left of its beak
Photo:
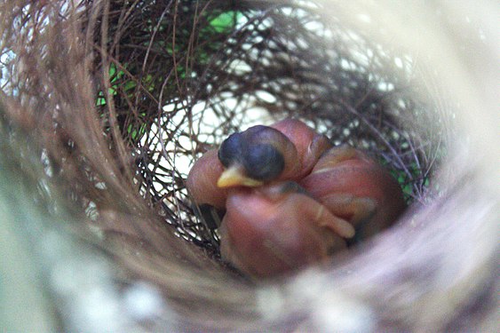
[[[194,202],[224,209],[227,188],[303,178],[329,147],[325,136],[298,120],[253,126],[202,155],[187,176],[187,190]]]

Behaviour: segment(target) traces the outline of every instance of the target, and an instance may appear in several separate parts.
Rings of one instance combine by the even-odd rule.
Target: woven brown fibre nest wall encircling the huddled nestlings
[[[20,233],[45,239],[56,229],[71,240],[76,263],[80,251],[88,262],[106,258],[86,270],[99,276],[92,283],[46,283],[59,318],[49,322],[93,328],[86,315],[96,300],[82,295],[100,287],[128,316],[91,317],[95,328],[495,325],[497,148],[485,125],[492,99],[480,99],[491,82],[477,71],[490,63],[478,37],[488,30],[472,22],[462,34],[440,31],[437,23],[460,27],[454,20],[464,12],[411,8],[1,4],[3,152],[11,156],[4,170],[28,193],[14,199],[36,202],[33,223],[46,226]],[[453,15],[440,17],[443,10]],[[480,54],[471,57],[460,44]],[[473,90],[472,78],[482,82]],[[194,214],[185,179],[194,160],[228,134],[286,116],[336,144],[368,150],[398,178],[410,208],[397,226],[328,269],[259,283],[220,261],[218,236]],[[35,243],[31,251],[46,246]],[[58,267],[42,269],[42,277]],[[138,314],[127,303],[123,295],[138,289],[155,299],[154,311]],[[85,302],[76,306],[68,292]]]

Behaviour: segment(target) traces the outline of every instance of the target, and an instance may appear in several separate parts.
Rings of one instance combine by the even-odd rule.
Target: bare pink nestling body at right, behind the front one
[[[299,183],[332,214],[355,227],[356,241],[393,225],[406,208],[396,179],[349,146],[330,148]]]

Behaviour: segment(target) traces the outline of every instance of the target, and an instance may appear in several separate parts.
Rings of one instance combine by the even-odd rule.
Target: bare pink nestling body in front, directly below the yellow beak
[[[231,189],[219,234],[222,258],[250,276],[268,278],[346,249],[354,228],[285,181]]]

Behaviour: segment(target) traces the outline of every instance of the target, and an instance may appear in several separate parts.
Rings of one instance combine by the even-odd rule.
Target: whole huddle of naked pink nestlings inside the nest
[[[230,136],[194,163],[187,188],[197,204],[225,210],[222,258],[255,277],[323,261],[405,208],[380,165],[292,119]]]

